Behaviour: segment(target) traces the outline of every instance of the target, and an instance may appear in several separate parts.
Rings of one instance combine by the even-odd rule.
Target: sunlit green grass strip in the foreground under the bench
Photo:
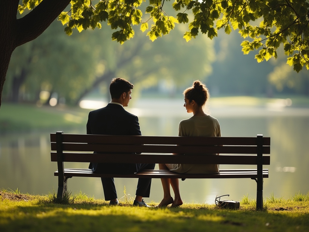
[[[215,204],[184,204],[179,208],[138,208],[130,196],[120,206],[108,206],[85,194],[70,196],[65,204],[49,195],[24,195],[10,200],[0,191],[0,231],[308,231],[309,198],[296,193],[290,199],[271,196],[263,211],[255,211],[248,195],[238,210],[218,209]],[[158,202],[150,202],[152,206]]]

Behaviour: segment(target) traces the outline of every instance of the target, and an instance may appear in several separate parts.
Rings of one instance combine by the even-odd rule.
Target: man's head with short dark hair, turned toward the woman
[[[112,101],[121,103],[123,106],[128,106],[131,99],[131,89],[134,85],[123,78],[113,78],[111,84],[109,85],[109,92],[112,97]]]

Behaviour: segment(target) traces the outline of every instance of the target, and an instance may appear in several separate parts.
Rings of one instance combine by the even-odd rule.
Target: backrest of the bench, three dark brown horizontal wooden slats
[[[82,135],[57,132],[50,134],[50,140],[51,150],[57,151],[51,152],[51,161],[140,163],[141,155],[135,153],[142,153],[143,163],[175,163],[177,160],[177,163],[188,164],[270,164],[270,157],[263,155],[270,154],[270,138],[263,137],[263,135],[257,135],[257,137],[180,137]],[[96,153],[93,153],[95,151]],[[132,154],[128,155],[128,153]],[[190,153],[190,155],[167,155],[165,153]],[[205,153],[220,153],[220,155],[199,155]]]

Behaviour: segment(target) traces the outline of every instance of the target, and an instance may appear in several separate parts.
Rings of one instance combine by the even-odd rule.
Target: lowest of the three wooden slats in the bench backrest
[[[177,156],[177,157],[176,157]],[[188,164],[239,164],[256,165],[254,155],[172,155],[172,154],[94,154],[63,153],[64,162],[106,162],[106,163],[179,163]],[[51,161],[57,161],[57,153],[51,152]],[[270,156],[263,156],[263,165],[270,164]]]

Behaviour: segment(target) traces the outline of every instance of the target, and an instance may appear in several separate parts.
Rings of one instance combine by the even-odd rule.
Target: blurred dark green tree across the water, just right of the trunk
[[[54,22],[37,39],[19,46],[12,54],[7,73],[4,100],[37,102],[48,100],[51,93],[68,100],[90,86],[95,78],[98,51],[87,43],[87,34],[68,40]],[[44,101],[43,101],[44,102]]]

